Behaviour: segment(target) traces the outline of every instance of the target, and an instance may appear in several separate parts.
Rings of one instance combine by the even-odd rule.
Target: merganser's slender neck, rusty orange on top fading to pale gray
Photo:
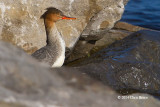
[[[46,35],[47,35],[47,45],[59,45],[63,41],[62,36],[57,30],[55,22],[50,20],[44,20]],[[64,41],[63,41],[64,42]]]

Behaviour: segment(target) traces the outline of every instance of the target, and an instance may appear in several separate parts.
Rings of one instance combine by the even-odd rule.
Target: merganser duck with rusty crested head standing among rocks
[[[51,67],[61,67],[65,60],[65,41],[58,32],[56,22],[67,19],[75,20],[74,17],[68,17],[57,8],[49,7],[46,12],[41,16],[44,20],[46,31],[46,46],[35,51],[31,56],[40,62],[49,64]]]

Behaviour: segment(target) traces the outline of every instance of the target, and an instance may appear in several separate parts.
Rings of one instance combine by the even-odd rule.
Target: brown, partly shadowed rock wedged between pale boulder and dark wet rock
[[[115,41],[121,40],[133,32],[144,29],[146,28],[134,26],[125,22],[117,22],[111,30],[101,29],[99,33],[94,35],[86,37],[81,36],[65,63],[68,64],[75,60],[88,57],[91,54],[106,48]]]

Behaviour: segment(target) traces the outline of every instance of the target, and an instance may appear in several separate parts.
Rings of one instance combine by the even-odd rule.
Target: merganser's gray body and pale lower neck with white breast
[[[52,67],[60,67],[65,59],[65,42],[56,26],[48,34],[48,43],[45,47],[32,54],[41,62],[48,63]]]

